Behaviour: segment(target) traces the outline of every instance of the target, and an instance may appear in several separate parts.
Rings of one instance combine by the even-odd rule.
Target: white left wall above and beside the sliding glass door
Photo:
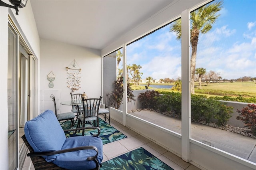
[[[10,4],[7,0],[4,2]],[[25,8],[20,9],[19,15],[15,15],[15,10],[0,7],[0,167],[2,170],[8,169],[8,108],[7,108],[7,65],[8,65],[8,14],[16,24],[18,31],[24,40],[34,51],[34,55],[40,58],[39,36],[36,23],[32,13],[30,1]]]

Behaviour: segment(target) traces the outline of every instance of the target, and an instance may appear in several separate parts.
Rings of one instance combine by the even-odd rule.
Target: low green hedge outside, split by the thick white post
[[[181,115],[181,93],[165,92],[160,95],[157,91],[140,93],[139,101],[144,108],[156,109],[160,112],[171,111]],[[225,125],[232,116],[233,108],[205,95],[191,95],[191,117],[194,121],[204,118],[207,123],[216,119],[218,126]]]

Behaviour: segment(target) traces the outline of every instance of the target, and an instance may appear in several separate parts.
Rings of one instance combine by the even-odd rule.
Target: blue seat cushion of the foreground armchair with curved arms
[[[95,146],[98,149],[97,160],[101,164],[103,159],[103,143],[102,139],[94,136],[76,136],[67,138],[62,146],[62,149],[68,149],[79,146]],[[78,150],[74,152],[66,152],[58,154],[53,163],[61,168],[70,170],[89,170],[96,167],[96,163],[93,160],[87,160],[88,156],[94,156],[95,150]]]

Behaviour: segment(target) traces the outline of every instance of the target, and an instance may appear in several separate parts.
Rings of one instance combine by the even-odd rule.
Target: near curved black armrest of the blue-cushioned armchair
[[[72,151],[84,150],[84,149],[96,150],[96,155],[88,156],[87,160],[94,160],[94,159],[97,158],[97,156],[98,156],[98,149],[95,146],[79,146],[79,147],[76,147],[76,148],[56,150],[56,151],[50,151],[50,152],[32,152],[32,153],[28,153],[27,156],[49,156],[49,155],[62,154],[62,153],[65,153],[65,152],[72,152]]]

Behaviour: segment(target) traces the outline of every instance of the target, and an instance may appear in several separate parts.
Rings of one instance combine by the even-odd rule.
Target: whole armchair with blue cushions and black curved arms
[[[25,144],[30,145],[30,148],[28,147],[30,153],[27,156],[30,156],[32,162],[33,158],[40,159],[41,156],[45,160],[42,161],[41,158],[40,163],[33,162],[35,169],[56,169],[56,167],[70,170],[99,169],[103,159],[103,144],[98,137],[100,128],[87,128],[98,129],[98,134],[66,138],[64,131],[74,131],[74,129],[63,130],[50,110],[26,122],[25,135],[22,139]],[[75,130],[82,129],[84,128]]]

